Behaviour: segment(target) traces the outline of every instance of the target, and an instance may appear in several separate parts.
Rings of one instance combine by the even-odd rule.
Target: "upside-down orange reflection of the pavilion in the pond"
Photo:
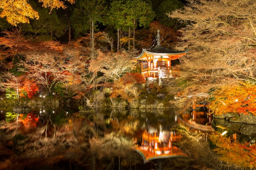
[[[145,163],[153,159],[186,157],[179,148],[172,145],[172,142],[180,141],[181,138],[182,136],[176,135],[175,132],[159,130],[159,132],[149,133],[145,130],[137,152],[144,158]]]

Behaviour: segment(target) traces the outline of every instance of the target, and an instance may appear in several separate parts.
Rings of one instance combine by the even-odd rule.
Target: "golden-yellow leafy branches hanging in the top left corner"
[[[66,0],[70,3],[74,3],[74,0]],[[60,0],[39,0],[42,2],[42,7],[50,8],[51,10],[56,8],[65,9],[66,6],[63,1]],[[17,26],[19,23],[29,23],[30,19],[39,19],[38,12],[35,11],[27,0],[2,0],[0,1],[0,17],[6,17],[7,22],[13,26]]]

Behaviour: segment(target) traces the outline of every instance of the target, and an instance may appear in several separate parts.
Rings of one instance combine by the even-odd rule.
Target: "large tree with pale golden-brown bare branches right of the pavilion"
[[[190,49],[181,58],[181,76],[191,82],[184,96],[208,93],[237,80],[256,82],[254,5],[254,0],[189,0],[169,14],[186,24],[177,46]]]

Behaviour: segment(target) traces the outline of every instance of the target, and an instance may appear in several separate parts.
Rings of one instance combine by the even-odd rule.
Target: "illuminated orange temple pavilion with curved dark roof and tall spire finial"
[[[135,57],[141,60],[141,74],[144,78],[169,78],[177,77],[179,70],[171,67],[171,60],[176,60],[185,55],[189,50],[174,51],[165,48],[160,43],[160,34],[157,30],[157,45],[153,49],[142,49],[141,54]]]

